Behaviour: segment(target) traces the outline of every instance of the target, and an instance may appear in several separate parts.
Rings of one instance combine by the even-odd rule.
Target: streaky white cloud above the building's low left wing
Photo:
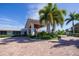
[[[23,25],[8,18],[0,18],[0,29],[21,29]]]

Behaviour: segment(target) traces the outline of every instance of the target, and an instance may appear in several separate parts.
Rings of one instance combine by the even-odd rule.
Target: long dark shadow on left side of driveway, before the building
[[[11,38],[6,38],[1,40],[3,44],[7,44],[11,42],[29,43],[29,42],[39,42],[39,41],[45,41],[45,40],[32,40],[31,38],[27,38],[27,37],[11,37]]]

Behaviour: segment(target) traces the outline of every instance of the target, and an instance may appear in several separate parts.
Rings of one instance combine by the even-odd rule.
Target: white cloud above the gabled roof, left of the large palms
[[[46,5],[46,3],[44,4],[31,4],[29,5],[29,11],[28,11],[28,14],[29,14],[29,18],[33,18],[33,19],[39,19],[39,10],[41,8],[43,8],[44,6]]]

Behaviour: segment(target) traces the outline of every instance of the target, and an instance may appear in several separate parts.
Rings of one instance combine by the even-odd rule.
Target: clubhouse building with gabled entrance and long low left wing
[[[0,35],[29,35],[32,34],[34,35],[37,32],[40,32],[41,24],[39,20],[34,20],[29,18],[25,24],[25,28],[21,30],[0,30]],[[48,26],[47,32],[50,32],[49,29],[50,26]]]

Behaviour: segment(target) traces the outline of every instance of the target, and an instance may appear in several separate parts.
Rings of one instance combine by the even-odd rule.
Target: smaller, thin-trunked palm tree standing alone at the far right
[[[75,20],[78,20],[79,19],[79,16],[78,16],[78,14],[77,13],[75,13],[75,12],[73,12],[73,13],[70,13],[70,15],[69,15],[70,17],[69,18],[67,18],[65,21],[67,21],[66,22],[66,24],[69,24],[70,22],[72,22],[72,31],[73,31],[73,34],[75,33],[75,30],[74,30],[74,21]]]

